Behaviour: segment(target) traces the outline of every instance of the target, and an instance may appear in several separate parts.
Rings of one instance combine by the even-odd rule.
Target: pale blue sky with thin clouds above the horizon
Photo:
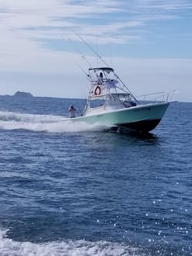
[[[192,0],[0,0],[0,94],[84,98],[98,52],[134,95],[191,102],[191,23]]]

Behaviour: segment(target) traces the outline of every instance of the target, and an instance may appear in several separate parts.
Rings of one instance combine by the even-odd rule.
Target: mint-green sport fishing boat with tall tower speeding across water
[[[71,119],[73,122],[149,132],[161,121],[174,93],[145,94],[139,101],[108,66],[88,69],[87,78],[91,84],[87,103],[81,116]],[[155,99],[148,101],[147,95],[155,95]]]

